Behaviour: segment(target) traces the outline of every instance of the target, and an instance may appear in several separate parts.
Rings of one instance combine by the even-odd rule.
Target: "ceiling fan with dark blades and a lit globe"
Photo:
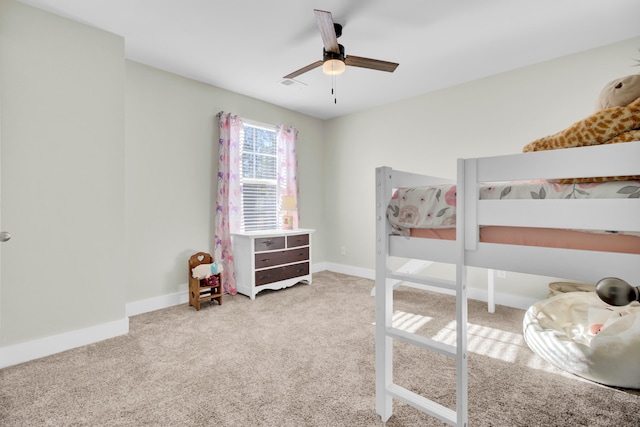
[[[379,59],[363,58],[361,56],[345,55],[344,46],[338,44],[338,37],[342,35],[342,25],[333,22],[331,12],[314,9],[316,22],[320,29],[324,48],[322,49],[322,60],[302,67],[283,78],[293,79],[294,77],[311,71],[322,65],[325,74],[342,74],[346,66],[369,68],[371,70],[387,71],[393,73],[399,65],[395,62],[381,61]]]

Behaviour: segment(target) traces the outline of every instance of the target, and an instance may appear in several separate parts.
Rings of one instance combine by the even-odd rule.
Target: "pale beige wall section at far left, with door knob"
[[[0,346],[126,329],[124,76],[121,37],[0,2]]]

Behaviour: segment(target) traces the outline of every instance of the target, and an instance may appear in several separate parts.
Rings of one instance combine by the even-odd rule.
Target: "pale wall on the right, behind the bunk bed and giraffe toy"
[[[459,157],[520,152],[591,114],[606,82],[639,72],[639,46],[636,38],[328,121],[328,261],[374,269],[376,167],[455,178]],[[529,280],[510,274],[497,285],[543,297],[544,286],[507,287]]]

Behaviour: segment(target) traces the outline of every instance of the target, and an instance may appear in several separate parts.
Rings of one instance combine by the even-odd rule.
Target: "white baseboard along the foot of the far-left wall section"
[[[129,318],[102,323],[25,343],[0,347],[0,368],[51,356],[72,348],[93,344],[129,333]]]

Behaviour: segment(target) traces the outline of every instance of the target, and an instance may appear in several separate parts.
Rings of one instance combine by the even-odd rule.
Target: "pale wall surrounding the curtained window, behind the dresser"
[[[298,131],[300,226],[326,260],[323,122],[127,61],[127,301],[187,289],[186,263],[213,251],[218,120],[224,110]]]

